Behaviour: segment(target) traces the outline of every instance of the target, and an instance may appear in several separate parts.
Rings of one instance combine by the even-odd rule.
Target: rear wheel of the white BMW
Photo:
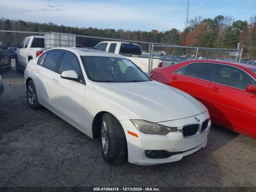
[[[41,107],[41,105],[38,103],[36,87],[32,80],[29,81],[27,84],[27,100],[28,100],[28,105],[31,108],[36,109]]]

